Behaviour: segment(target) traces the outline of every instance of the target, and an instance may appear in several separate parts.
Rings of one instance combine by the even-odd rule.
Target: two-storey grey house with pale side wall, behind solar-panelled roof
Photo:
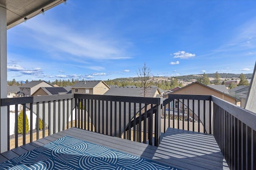
[[[51,84],[49,84],[46,81],[31,81],[27,84],[24,84],[23,86],[20,86],[20,96],[32,96],[36,90],[38,90],[40,87],[52,87]]]

